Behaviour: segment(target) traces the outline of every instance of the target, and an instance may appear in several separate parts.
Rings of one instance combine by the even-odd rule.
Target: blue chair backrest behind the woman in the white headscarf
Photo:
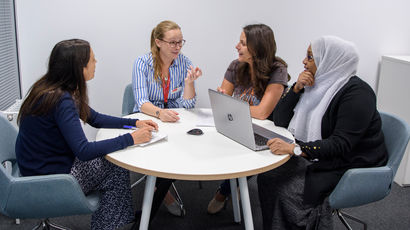
[[[393,170],[393,178],[410,140],[410,126],[400,117],[380,112],[384,141],[389,153],[387,166]]]

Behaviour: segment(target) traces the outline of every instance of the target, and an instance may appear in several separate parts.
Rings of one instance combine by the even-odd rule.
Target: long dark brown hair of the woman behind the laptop
[[[237,82],[240,86],[253,86],[257,98],[261,99],[269,83],[269,74],[274,72],[284,60],[276,56],[276,41],[272,29],[264,24],[252,24],[243,28],[246,37],[246,46],[252,56],[253,73],[247,62],[241,62],[237,71]],[[248,74],[255,78],[248,78]],[[288,75],[288,80],[290,76]]]

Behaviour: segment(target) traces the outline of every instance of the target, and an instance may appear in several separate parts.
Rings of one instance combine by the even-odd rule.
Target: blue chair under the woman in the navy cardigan
[[[70,174],[20,176],[14,151],[17,130],[2,116],[0,130],[0,213],[42,219],[34,229],[65,229],[49,218],[89,214],[98,208],[99,194],[85,196]]]

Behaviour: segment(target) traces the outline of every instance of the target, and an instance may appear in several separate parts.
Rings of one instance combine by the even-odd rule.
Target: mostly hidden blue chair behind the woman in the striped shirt
[[[134,91],[132,90],[132,84],[128,84],[127,86],[125,86],[124,95],[122,98],[122,116],[126,116],[126,115],[133,113],[134,106],[135,106]],[[142,176],[139,180],[137,180],[135,183],[131,185],[131,188],[141,183],[146,177],[147,177],[146,175]],[[181,216],[184,216],[186,212],[184,208],[184,203],[182,202],[181,196],[179,195],[178,190],[175,187],[174,183],[172,183],[172,188],[175,192],[175,199],[179,204],[179,208],[181,209]]]

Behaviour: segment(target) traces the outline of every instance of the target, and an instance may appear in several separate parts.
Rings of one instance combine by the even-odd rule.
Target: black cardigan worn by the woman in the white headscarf
[[[273,111],[275,125],[288,127],[301,93],[286,91]],[[359,77],[352,77],[333,97],[322,117],[322,140],[296,140],[308,159],[304,201],[319,204],[350,168],[377,167],[387,162],[387,149],[376,108],[376,95]]]

